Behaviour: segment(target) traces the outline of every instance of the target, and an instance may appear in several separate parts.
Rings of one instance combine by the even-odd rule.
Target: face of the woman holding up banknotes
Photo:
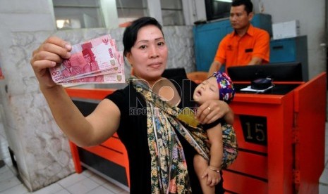
[[[167,47],[162,31],[154,25],[140,28],[135,44],[126,55],[135,75],[146,81],[157,81],[166,67]]]

